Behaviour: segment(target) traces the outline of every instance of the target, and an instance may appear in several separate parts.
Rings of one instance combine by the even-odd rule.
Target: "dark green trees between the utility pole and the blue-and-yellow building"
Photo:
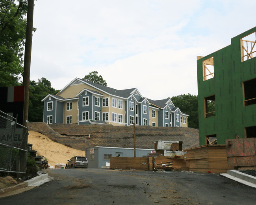
[[[55,95],[58,92],[59,90],[52,88],[50,81],[46,78],[38,79],[38,82],[30,81],[28,121],[43,122],[44,103],[41,101],[46,95]]]

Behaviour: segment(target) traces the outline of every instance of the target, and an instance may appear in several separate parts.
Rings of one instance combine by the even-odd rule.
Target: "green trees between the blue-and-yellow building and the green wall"
[[[198,129],[198,99],[197,95],[178,95],[171,98],[171,101],[176,107],[179,107],[181,112],[189,115],[188,127]]]

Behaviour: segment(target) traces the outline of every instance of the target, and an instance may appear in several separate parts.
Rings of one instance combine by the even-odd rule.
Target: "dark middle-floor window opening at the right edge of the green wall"
[[[256,78],[243,82],[243,106],[256,104]]]

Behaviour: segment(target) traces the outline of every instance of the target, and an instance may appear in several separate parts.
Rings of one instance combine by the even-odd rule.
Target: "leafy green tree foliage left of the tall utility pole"
[[[26,13],[27,0],[0,1],[0,86],[18,85],[23,73]]]

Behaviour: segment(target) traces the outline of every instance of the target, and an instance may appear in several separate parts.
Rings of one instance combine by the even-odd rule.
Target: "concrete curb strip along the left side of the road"
[[[54,180],[54,178],[49,177],[48,174],[41,174],[15,186],[0,189],[0,198],[20,194],[52,180]]]

